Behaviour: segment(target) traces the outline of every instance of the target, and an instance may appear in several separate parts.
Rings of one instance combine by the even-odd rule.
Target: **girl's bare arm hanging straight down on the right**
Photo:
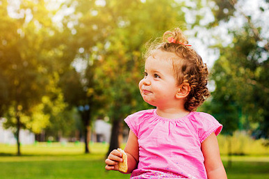
[[[204,166],[209,179],[227,179],[225,168],[220,159],[218,139],[213,132],[202,142],[202,153],[204,155]]]

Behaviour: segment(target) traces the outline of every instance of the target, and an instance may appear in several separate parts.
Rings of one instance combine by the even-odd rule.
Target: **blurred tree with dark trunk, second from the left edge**
[[[92,29],[92,26],[97,28],[96,26],[106,19],[98,19],[92,14],[95,1],[66,1],[65,6],[73,8],[74,13],[63,17],[60,22],[65,33],[61,36],[62,40],[67,39],[67,55],[63,56],[62,60],[68,61],[69,66],[60,74],[59,86],[63,89],[65,101],[70,108],[75,107],[81,116],[85,153],[90,153],[90,124],[99,107],[99,91],[95,81],[97,63],[94,54],[97,42],[104,39],[104,33]],[[105,26],[105,23],[101,25]]]

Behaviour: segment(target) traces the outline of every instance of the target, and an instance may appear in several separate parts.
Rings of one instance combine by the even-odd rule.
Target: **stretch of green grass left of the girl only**
[[[117,171],[104,169],[108,145],[90,145],[90,154],[83,154],[83,144],[39,143],[22,146],[22,156],[16,156],[16,146],[0,144],[1,179],[76,179],[129,178]]]

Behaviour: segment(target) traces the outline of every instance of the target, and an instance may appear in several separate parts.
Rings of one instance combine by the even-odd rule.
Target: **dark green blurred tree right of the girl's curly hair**
[[[220,54],[212,69],[215,91],[208,109],[224,125],[225,134],[231,135],[238,129],[255,130],[253,124],[259,123],[259,130],[268,137],[269,86],[265,77],[269,75],[266,71],[269,41],[268,27],[263,24],[268,19],[269,4],[267,1],[252,5],[252,1],[214,2],[218,8],[212,9],[215,20],[209,24],[209,30],[222,28],[223,32],[225,26],[227,31],[225,37],[221,34],[213,37],[218,39],[218,44],[212,47],[218,48]],[[255,17],[247,8],[260,16]],[[232,143],[229,151],[231,146]]]

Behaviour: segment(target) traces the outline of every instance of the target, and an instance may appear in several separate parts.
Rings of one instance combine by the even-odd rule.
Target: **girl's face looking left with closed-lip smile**
[[[158,51],[149,56],[145,63],[145,77],[139,82],[139,89],[145,102],[155,107],[170,107],[179,90],[174,78],[172,61],[174,54]]]

